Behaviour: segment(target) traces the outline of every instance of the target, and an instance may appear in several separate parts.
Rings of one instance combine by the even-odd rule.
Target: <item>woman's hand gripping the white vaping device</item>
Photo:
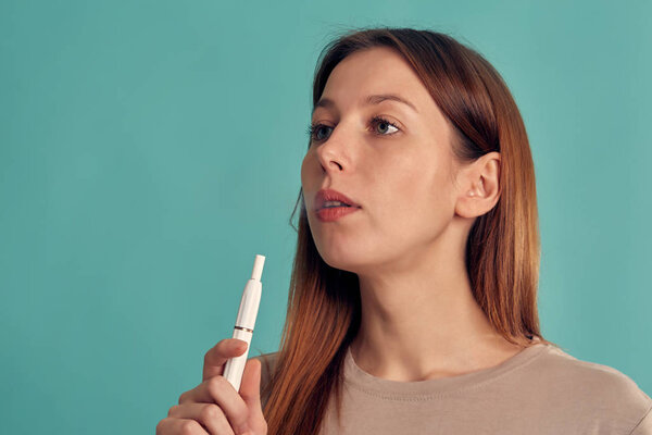
[[[179,405],[156,425],[156,435],[266,435],[267,422],[261,407],[261,362],[244,365],[240,394],[224,377],[230,358],[244,353],[247,341],[225,338],[204,356],[202,383],[185,391]]]

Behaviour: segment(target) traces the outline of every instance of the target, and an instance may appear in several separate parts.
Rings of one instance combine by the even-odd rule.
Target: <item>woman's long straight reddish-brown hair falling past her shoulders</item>
[[[448,35],[363,28],[346,32],[322,51],[313,107],[335,66],[347,55],[373,47],[394,49],[414,69],[453,127],[451,146],[460,162],[500,152],[500,199],[476,219],[466,244],[473,295],[510,343],[527,347],[538,340],[556,346],[539,331],[535,170],[525,125],[507,86],[478,52]],[[298,206],[286,323],[272,381],[263,391],[268,395],[264,414],[271,435],[316,434],[331,397],[339,412],[343,359],[361,320],[358,275],[329,266],[317,252],[302,190],[290,224]]]

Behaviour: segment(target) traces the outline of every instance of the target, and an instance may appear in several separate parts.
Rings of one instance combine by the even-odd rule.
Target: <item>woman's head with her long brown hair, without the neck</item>
[[[398,95],[416,110],[392,100],[366,104],[376,94]],[[271,434],[316,433],[330,397],[339,409],[346,349],[360,327],[359,274],[400,266],[401,256],[418,253],[447,228],[465,246],[473,296],[496,331],[519,345],[552,344],[539,331],[529,144],[489,62],[436,32],[352,30],[323,51],[313,108],[312,122],[324,126],[315,126],[301,167],[288,312],[263,391]],[[312,207],[322,188],[361,210],[319,222]]]

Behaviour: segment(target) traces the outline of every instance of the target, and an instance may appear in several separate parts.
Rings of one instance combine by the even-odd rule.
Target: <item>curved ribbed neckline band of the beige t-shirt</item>
[[[497,380],[512,370],[531,362],[549,347],[547,344],[537,343],[497,365],[475,372],[435,380],[401,382],[376,377],[362,370],[355,363],[351,353],[351,347],[349,346],[344,357],[344,382],[373,396],[389,399],[405,396],[411,396],[413,399],[413,396],[441,395],[477,387]]]

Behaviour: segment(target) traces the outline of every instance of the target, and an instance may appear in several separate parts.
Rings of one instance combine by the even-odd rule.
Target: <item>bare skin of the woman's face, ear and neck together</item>
[[[396,94],[414,104],[369,95]],[[324,261],[356,273],[361,330],[355,362],[377,377],[424,381],[493,366],[523,348],[489,324],[472,296],[464,247],[475,219],[500,197],[500,154],[457,163],[453,129],[403,58],[358,51],[331,72],[313,112],[301,165],[308,220]],[[398,128],[380,122],[383,116]],[[361,209],[334,222],[314,211],[321,188]]]

